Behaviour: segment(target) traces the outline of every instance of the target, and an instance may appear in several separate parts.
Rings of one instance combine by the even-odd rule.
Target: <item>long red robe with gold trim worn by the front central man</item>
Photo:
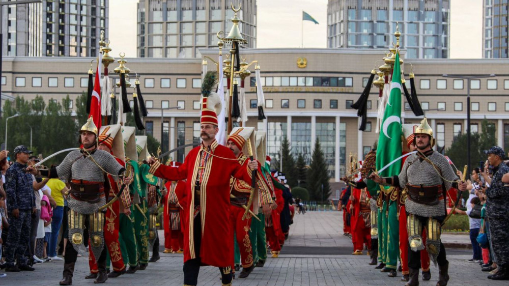
[[[201,182],[200,214],[202,219],[202,242],[200,252],[194,249],[193,239],[193,211],[194,211],[194,183],[200,153],[203,145],[192,149],[179,167],[153,164],[150,172],[156,177],[166,180],[187,179],[185,188],[184,207],[184,262],[189,259],[200,258],[202,265],[217,267],[230,266],[233,257],[233,230],[230,224],[230,178],[246,181],[251,184],[251,170],[243,167],[237,161],[232,150],[211,144],[214,156],[207,160],[205,173]],[[179,197],[180,202],[180,197]]]

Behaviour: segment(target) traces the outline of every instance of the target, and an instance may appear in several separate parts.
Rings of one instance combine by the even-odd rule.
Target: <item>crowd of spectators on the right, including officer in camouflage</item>
[[[485,151],[488,160],[472,170],[466,211],[473,256],[470,262],[489,272],[489,279],[509,280],[509,161],[500,147]]]

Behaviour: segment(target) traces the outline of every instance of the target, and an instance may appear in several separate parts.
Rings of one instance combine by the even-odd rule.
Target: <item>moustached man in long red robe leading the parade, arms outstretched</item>
[[[207,82],[205,76],[204,82]],[[149,158],[150,173],[170,181],[187,179],[184,207],[184,284],[196,285],[201,265],[219,267],[223,285],[232,283],[233,230],[230,224],[230,179],[251,184],[256,160],[243,167],[233,152],[215,140],[217,112],[221,104],[216,93],[202,92],[202,144],[192,149],[180,167],[170,167]],[[217,104],[218,103],[218,104]],[[217,108],[218,107],[218,108]]]

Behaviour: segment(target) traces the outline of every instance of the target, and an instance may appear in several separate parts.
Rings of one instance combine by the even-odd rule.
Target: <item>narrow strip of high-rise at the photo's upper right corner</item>
[[[507,0],[483,2],[483,58],[507,59]]]

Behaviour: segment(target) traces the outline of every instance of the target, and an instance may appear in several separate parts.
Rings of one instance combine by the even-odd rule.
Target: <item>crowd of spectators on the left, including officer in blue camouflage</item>
[[[56,254],[67,191],[58,179],[36,178],[26,172],[40,159],[25,146],[0,152],[0,269],[34,271],[35,264],[62,261]],[[1,271],[1,270],[0,270]],[[7,276],[0,272],[0,277]],[[1,283],[1,282],[0,282]]]

